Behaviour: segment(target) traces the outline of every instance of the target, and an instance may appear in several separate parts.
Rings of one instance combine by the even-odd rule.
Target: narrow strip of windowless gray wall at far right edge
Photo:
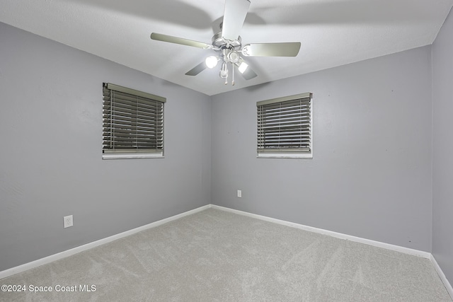
[[[453,15],[432,46],[432,255],[453,284]]]

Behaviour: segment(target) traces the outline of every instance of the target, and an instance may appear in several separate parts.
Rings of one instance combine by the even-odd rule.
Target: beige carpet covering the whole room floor
[[[0,284],[26,288],[1,301],[452,301],[427,259],[217,209]]]

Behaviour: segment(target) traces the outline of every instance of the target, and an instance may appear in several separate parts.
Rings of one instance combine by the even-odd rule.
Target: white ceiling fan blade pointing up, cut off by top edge
[[[246,21],[250,0],[225,0],[222,37],[226,40],[237,40],[243,22]]]

